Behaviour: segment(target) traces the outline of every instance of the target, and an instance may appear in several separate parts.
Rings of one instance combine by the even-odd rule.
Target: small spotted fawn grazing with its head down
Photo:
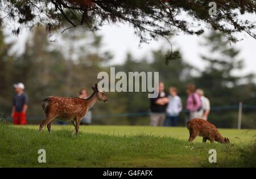
[[[212,143],[215,140],[220,143],[229,143],[229,138],[223,138],[217,127],[208,121],[194,118],[187,122],[187,127],[189,130],[189,142],[192,142],[199,135],[203,137],[203,142],[210,140]]]

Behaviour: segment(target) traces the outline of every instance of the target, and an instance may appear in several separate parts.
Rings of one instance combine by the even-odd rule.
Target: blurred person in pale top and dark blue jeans
[[[182,110],[182,103],[179,96],[177,96],[177,88],[170,87],[170,95],[168,96],[169,103],[166,108],[166,122],[165,126],[177,126],[179,121],[179,114]]]

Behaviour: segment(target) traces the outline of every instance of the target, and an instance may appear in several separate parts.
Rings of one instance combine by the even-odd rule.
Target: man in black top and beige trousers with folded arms
[[[164,92],[164,83],[160,82],[158,85],[158,97],[150,99],[150,125],[163,126],[166,120],[166,108],[169,99]]]

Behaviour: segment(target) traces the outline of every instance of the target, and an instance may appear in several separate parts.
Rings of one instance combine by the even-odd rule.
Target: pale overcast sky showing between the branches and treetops
[[[6,33],[8,32],[10,32],[9,29],[6,29]],[[162,46],[170,49],[170,44],[166,40],[152,40],[150,44],[141,44],[139,47],[139,39],[129,25],[106,25],[98,33],[103,36],[104,49],[114,54],[113,64],[122,63],[127,52],[130,52],[135,59],[141,59],[150,58],[149,52],[153,49],[159,49]],[[10,39],[17,41],[14,50],[22,51],[29,35],[28,30],[23,30],[18,37],[10,35]],[[241,73],[256,73],[256,40],[245,34],[242,37],[244,40],[232,45],[241,50],[240,58],[245,60],[245,68]],[[172,39],[174,48],[180,49],[185,61],[203,69],[205,63],[200,59],[200,54],[205,52],[205,48],[200,46],[200,42],[203,42],[202,36],[179,35]]]

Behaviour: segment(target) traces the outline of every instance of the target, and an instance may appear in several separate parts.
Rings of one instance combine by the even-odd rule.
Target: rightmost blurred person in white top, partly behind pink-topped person
[[[207,121],[210,113],[210,101],[207,97],[204,96],[204,90],[197,89],[196,93],[200,96],[201,103],[202,103],[201,118]]]

